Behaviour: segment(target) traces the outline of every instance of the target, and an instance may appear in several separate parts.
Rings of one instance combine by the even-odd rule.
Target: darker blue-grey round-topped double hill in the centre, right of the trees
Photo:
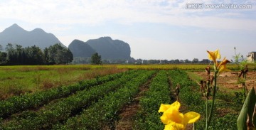
[[[75,57],[90,58],[93,53],[97,52],[102,59],[129,59],[131,58],[131,49],[128,43],[122,40],[112,40],[110,37],[102,37],[98,39],[73,40],[68,48]]]

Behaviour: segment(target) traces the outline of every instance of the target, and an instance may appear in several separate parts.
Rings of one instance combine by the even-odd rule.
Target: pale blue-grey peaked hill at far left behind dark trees
[[[23,47],[36,45],[44,49],[55,43],[60,43],[60,40],[52,33],[46,33],[41,28],[26,31],[15,23],[0,33],[0,45],[2,45],[2,48],[6,48],[8,43],[22,45]]]

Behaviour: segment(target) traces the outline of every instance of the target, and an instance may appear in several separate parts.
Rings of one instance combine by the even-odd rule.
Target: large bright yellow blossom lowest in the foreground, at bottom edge
[[[181,104],[176,101],[173,104],[161,104],[159,112],[164,112],[160,117],[161,121],[166,124],[164,130],[183,130],[188,123],[194,123],[200,118],[196,112],[182,114],[178,111]]]

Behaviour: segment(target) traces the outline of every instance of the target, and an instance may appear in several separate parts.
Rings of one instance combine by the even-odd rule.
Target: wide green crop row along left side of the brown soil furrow
[[[114,129],[119,111],[132,101],[132,97],[139,93],[139,86],[146,82],[155,71],[144,71],[122,88],[112,92],[99,102],[93,104],[78,117],[68,119],[64,125],[57,124],[54,129]]]

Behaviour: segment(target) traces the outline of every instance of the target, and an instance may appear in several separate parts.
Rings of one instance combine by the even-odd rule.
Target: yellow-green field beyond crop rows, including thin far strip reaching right
[[[170,65],[17,65],[0,67],[0,99],[13,95],[46,90],[51,87],[71,85],[81,80],[109,75],[126,70],[188,70],[204,71],[203,64]],[[230,70],[238,71],[238,65],[229,64]],[[256,64],[249,65],[256,70]]]

